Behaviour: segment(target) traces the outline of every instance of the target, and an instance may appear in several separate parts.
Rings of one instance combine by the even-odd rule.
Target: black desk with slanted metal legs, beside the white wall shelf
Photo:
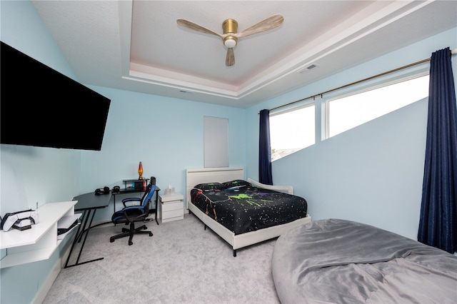
[[[81,253],[83,252],[84,248],[84,243],[86,243],[86,238],[87,235],[89,235],[89,230],[91,229],[92,221],[94,221],[94,216],[97,211],[97,209],[105,208],[109,205],[109,201],[111,200],[111,196],[108,195],[99,195],[96,196],[94,192],[91,193],[86,193],[86,194],[81,194],[81,196],[75,196],[73,198],[73,201],[78,201],[76,205],[74,206],[74,211],[83,211],[83,216],[81,218],[81,224],[78,227],[78,230],[76,232],[76,236],[73,240],[73,243],[71,244],[71,249],[68,258],[66,258],[66,263],[64,268],[69,268],[81,264],[86,264],[90,262],[94,262],[95,260],[103,260],[103,258],[96,258],[94,260],[88,260],[86,262],[79,263],[79,258],[81,258]],[[92,216],[91,216],[92,214]],[[89,221],[89,217],[91,217],[91,220]],[[89,221],[89,226],[87,225],[87,222]],[[87,227],[87,228],[86,228]],[[73,252],[74,245],[76,245],[76,242],[81,241],[82,235],[86,233],[84,236],[83,243],[81,244],[81,248],[79,249],[79,255],[78,258],[76,259],[76,263],[73,265],[69,265],[69,260],[71,257],[71,253]]]

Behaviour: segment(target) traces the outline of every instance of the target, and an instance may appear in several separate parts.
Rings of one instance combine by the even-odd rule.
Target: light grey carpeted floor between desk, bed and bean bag
[[[92,229],[79,263],[104,259],[62,269],[44,304],[279,303],[271,275],[276,239],[238,249],[234,258],[194,215],[146,226],[154,236],[135,235],[131,246],[128,238],[109,242],[124,226]]]

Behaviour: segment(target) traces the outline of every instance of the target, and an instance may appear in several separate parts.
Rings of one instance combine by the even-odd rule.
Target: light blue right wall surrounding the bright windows
[[[258,112],[263,108],[421,61],[447,46],[457,47],[457,28],[248,108],[246,176],[258,178]],[[456,61],[454,55],[454,81]],[[417,239],[427,107],[427,100],[418,101],[325,141],[318,138],[315,145],[274,161],[273,183],[292,185],[307,199],[315,220],[345,218]]]

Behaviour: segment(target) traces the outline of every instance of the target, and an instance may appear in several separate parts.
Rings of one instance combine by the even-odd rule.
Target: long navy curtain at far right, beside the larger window
[[[428,90],[418,241],[453,253],[457,249],[457,110],[449,48],[432,54]]]

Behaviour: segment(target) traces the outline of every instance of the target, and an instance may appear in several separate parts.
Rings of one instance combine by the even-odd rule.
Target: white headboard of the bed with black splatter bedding
[[[191,190],[199,183],[224,183],[235,179],[244,180],[244,168],[186,169],[186,208],[191,203]]]

